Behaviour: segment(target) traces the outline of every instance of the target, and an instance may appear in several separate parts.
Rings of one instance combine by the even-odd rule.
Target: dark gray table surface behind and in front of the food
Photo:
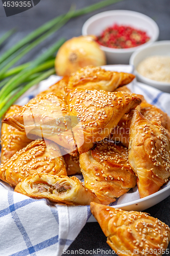
[[[71,3],[75,3],[77,8],[82,8],[93,3],[97,3],[97,0],[41,0],[40,3],[34,8],[14,15],[6,17],[2,1],[0,1],[0,24],[1,31],[0,36],[7,30],[16,27],[18,32],[15,36],[8,41],[5,49],[12,46],[16,41],[19,41],[20,38],[27,35],[32,30],[38,28],[40,25],[45,23],[47,20],[50,20],[56,17],[59,14],[65,13],[69,10]],[[113,4],[109,7],[102,8],[101,10],[95,11],[90,14],[86,14],[81,17],[74,18],[70,20],[63,28],[55,33],[54,36],[51,36],[47,39],[40,47],[34,49],[29,53],[23,61],[31,60],[35,57],[36,54],[40,54],[44,48],[47,48],[54,43],[60,37],[65,37],[69,39],[73,36],[81,35],[81,29],[84,22],[92,15],[107,11],[107,10],[132,10],[141,12],[152,17],[155,22],[158,24],[160,29],[159,40],[170,40],[170,1],[169,0],[125,0],[116,4]],[[40,50],[41,49],[41,50]],[[145,210],[149,212],[153,217],[160,219],[170,226],[170,197],[166,198],[164,201],[159,204]],[[80,220],[81,221],[81,220]],[[79,236],[76,240],[70,245],[68,250],[71,253],[71,250],[96,250],[103,249],[104,251],[109,250],[110,247],[106,243],[106,237],[104,236],[98,223],[87,223],[84,228],[81,230]],[[168,246],[170,249],[170,246]],[[94,253],[90,255],[106,255],[103,252],[98,254]],[[75,252],[76,255],[87,255],[87,253],[80,254]],[[1,254],[1,253],[0,253]],[[64,254],[64,255],[68,255]],[[111,255],[111,254],[107,254]],[[48,256],[48,255],[47,255]]]

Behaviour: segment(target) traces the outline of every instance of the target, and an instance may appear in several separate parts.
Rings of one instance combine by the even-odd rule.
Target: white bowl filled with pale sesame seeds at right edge
[[[132,54],[130,64],[138,81],[170,93],[170,40],[142,47]]]

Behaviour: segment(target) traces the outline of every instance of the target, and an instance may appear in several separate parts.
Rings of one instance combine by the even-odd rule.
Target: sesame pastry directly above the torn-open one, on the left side
[[[16,186],[33,174],[67,175],[65,162],[56,143],[35,140],[0,165],[0,179]]]

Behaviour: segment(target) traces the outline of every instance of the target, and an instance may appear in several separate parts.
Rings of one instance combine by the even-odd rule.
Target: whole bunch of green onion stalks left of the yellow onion
[[[48,36],[52,35],[55,31],[62,27],[71,17],[77,17],[79,15],[92,12],[119,1],[122,0],[105,0],[77,11],[70,10],[67,14],[60,15],[50,22],[44,24],[20,40],[11,49],[6,51],[0,59],[0,80],[7,77],[0,82],[0,88],[1,86],[4,86],[0,91],[0,117],[2,117],[2,115],[7,111],[11,104],[13,104],[15,100],[18,99],[23,93],[25,93],[30,87],[42,79],[45,79],[47,76],[55,73],[55,70],[51,69],[43,74],[38,74],[43,70],[54,67],[54,59],[45,63],[42,62],[52,57],[54,52],[56,52],[63,44],[64,39],[59,40],[56,44],[54,44],[45,53],[41,54],[34,61],[7,71],[12,65],[14,65],[14,63],[16,63],[22,56],[27,54],[30,50],[44,41]],[[30,42],[31,44],[28,45]],[[9,78],[9,75],[14,76]],[[25,85],[27,81],[30,82]]]

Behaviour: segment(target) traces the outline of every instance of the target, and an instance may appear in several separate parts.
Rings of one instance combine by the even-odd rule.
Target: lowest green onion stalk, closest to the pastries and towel
[[[28,89],[30,89],[32,86],[34,86],[35,84],[39,83],[40,81],[42,81],[43,79],[51,76],[55,74],[55,69],[50,69],[48,71],[46,71],[45,73],[43,73],[42,75],[40,75],[38,78],[34,79],[33,81],[31,81],[30,83],[28,83],[25,87],[23,87],[21,90],[19,90],[19,92],[17,92],[14,96],[14,93],[11,93],[11,96],[13,96],[10,100],[4,100],[3,104],[4,107],[1,109],[0,111],[0,118],[6,113],[6,111],[10,108],[10,106],[20,97],[22,96],[23,93],[27,92]],[[17,91],[17,89],[15,89]],[[13,91],[14,92],[14,91]]]

